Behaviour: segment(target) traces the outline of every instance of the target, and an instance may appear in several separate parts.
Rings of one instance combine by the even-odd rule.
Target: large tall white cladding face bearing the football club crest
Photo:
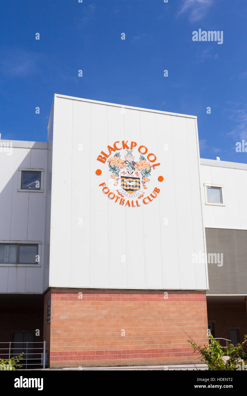
[[[159,194],[148,204],[135,198],[135,208],[99,187],[118,194],[97,157],[127,140],[137,143],[136,162],[144,145],[160,163],[141,187],[144,197]],[[204,253],[195,118],[55,96],[52,145],[50,286],[207,288],[206,265],[193,263]],[[117,151],[124,159],[126,149]]]

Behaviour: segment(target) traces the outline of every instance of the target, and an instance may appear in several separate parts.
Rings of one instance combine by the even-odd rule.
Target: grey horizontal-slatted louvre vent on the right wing
[[[205,228],[209,291],[247,295],[247,230]]]

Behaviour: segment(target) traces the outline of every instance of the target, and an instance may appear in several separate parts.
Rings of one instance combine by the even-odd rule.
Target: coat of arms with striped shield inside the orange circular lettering
[[[114,186],[121,182],[121,189],[117,190],[120,196],[127,196],[128,198],[142,198],[144,190],[147,188],[146,183],[149,182],[151,175],[151,165],[146,161],[146,158],[141,155],[140,161],[135,162],[132,155],[133,150],[126,150],[125,160],[121,159],[120,152],[116,152],[113,158],[108,160],[109,169],[113,173],[111,178],[115,180]]]

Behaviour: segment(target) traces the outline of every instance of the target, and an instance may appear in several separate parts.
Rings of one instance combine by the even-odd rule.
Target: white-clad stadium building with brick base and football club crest
[[[1,356],[181,364],[208,329],[243,340],[247,165],[200,159],[195,116],[55,95],[48,142],[0,140],[0,174]]]

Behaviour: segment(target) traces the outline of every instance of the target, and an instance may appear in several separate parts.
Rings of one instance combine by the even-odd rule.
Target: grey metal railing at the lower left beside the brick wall
[[[45,368],[49,365],[50,348],[46,341],[43,342],[3,342],[0,343],[0,358],[8,360],[15,356],[19,356],[23,352],[18,366],[21,369],[27,368]]]

